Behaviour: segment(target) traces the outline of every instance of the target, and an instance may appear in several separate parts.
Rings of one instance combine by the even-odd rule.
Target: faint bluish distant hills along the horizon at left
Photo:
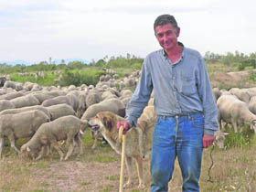
[[[52,63],[55,63],[56,65],[59,65],[61,63],[61,60],[62,59],[54,59],[52,60],[51,62]],[[72,62],[72,61],[80,61],[80,62],[83,62],[85,64],[89,64],[91,61],[89,60],[85,60],[85,59],[64,59],[65,60],[65,64],[69,64],[69,62]],[[13,60],[13,61],[10,61],[10,60],[0,60],[0,64],[7,64],[7,65],[17,65],[17,64],[24,64],[24,65],[33,65],[33,64],[38,64],[40,61],[37,61],[37,62],[30,62],[30,61],[27,61],[27,60]]]

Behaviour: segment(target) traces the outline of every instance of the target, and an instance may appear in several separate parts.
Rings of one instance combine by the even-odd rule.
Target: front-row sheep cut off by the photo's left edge
[[[5,137],[9,139],[11,147],[14,148],[18,154],[20,154],[20,151],[15,145],[16,139],[31,137],[37,132],[37,129],[42,123],[47,122],[49,122],[48,116],[44,112],[38,110],[1,115],[0,158]]]

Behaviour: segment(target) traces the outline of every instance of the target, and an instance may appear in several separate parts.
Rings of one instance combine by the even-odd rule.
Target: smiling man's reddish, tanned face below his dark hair
[[[165,51],[176,47],[179,30],[179,27],[175,29],[171,24],[155,27],[155,37]]]

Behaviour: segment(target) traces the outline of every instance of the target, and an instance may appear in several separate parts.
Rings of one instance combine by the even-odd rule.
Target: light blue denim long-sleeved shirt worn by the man
[[[182,43],[179,45],[184,47]],[[213,134],[219,130],[207,66],[197,50],[184,47],[182,57],[176,63],[166,57],[164,49],[144,59],[141,79],[126,106],[125,120],[132,126],[136,126],[153,89],[157,115],[202,112],[204,133]]]

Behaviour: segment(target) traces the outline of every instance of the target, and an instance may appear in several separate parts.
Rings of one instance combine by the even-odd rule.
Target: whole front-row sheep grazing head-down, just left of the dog
[[[26,151],[33,157],[37,155],[37,160],[40,159],[44,153],[45,146],[52,145],[60,155],[60,161],[63,160],[64,154],[59,148],[59,141],[66,141],[69,145],[69,150],[65,156],[65,160],[72,154],[74,145],[79,144],[80,154],[82,154],[82,145],[80,138],[80,130],[82,130],[88,124],[87,121],[82,121],[79,118],[69,115],[60,117],[59,119],[50,122],[43,123],[37,130],[37,133],[27,142],[21,146],[21,152]]]

